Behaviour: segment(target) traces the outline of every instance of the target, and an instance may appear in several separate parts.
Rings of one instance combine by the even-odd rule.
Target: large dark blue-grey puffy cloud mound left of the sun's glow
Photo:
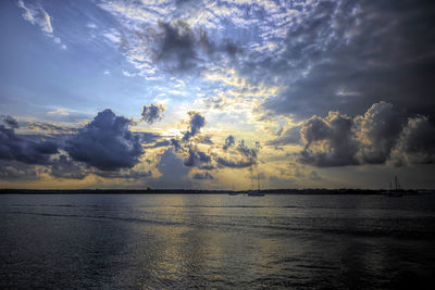
[[[130,121],[107,109],[67,140],[65,150],[74,161],[100,171],[130,168],[144,153],[139,137],[129,131]]]

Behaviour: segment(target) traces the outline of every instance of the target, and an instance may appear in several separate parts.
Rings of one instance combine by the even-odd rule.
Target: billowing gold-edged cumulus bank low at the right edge
[[[435,128],[427,117],[406,117],[385,102],[351,118],[338,112],[312,116],[300,129],[299,161],[314,166],[434,163]]]

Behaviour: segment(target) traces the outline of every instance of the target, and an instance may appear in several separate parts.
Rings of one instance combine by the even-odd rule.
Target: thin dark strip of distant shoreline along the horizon
[[[364,194],[381,196],[386,189],[264,189],[266,194]],[[247,190],[196,190],[196,189],[0,189],[0,194],[228,194],[247,193]],[[402,190],[403,194],[435,193],[435,190]]]

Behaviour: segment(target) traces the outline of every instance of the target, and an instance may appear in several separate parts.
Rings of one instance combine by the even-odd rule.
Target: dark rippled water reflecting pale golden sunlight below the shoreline
[[[434,289],[435,197],[0,196],[1,289]]]

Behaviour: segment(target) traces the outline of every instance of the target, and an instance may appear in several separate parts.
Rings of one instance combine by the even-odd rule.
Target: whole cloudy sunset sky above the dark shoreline
[[[2,188],[435,188],[435,3],[3,0]]]

